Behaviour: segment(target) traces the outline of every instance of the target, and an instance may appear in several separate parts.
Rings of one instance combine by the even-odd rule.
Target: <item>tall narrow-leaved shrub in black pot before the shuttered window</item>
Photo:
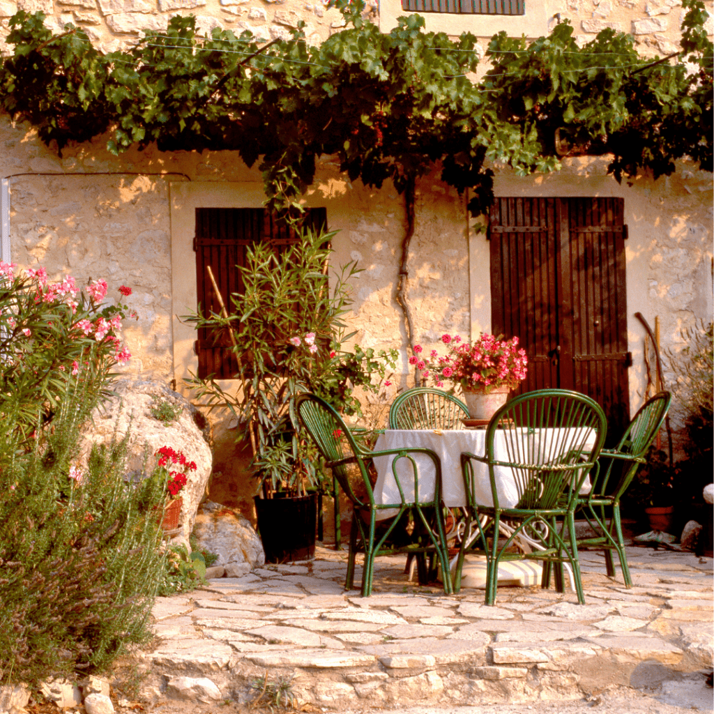
[[[245,265],[238,266],[243,292],[231,295],[230,313],[188,318],[230,336],[238,390],[212,378],[189,383],[207,403],[226,406],[238,418],[238,438],[251,444],[258,531],[268,562],[314,553],[322,470],[291,409],[293,397],[311,391],[346,415],[360,415],[353,389],[376,389],[396,360],[396,351],[342,349],[354,334],[346,334],[343,316],[351,304],[348,281],[358,268],[348,263],[328,278],[334,233],[296,232],[296,243],[281,246],[280,255],[270,242],[248,248]]]

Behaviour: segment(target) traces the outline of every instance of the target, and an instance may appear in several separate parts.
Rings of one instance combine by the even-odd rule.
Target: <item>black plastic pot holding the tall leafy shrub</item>
[[[256,496],[255,501],[266,563],[315,557],[317,493],[287,498]]]

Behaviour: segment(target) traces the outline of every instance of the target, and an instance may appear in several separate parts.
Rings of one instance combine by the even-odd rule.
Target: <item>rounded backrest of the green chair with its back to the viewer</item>
[[[496,468],[510,468],[516,508],[547,510],[573,503],[603,448],[607,421],[598,403],[565,389],[527,392],[506,402],[486,428],[493,503]]]

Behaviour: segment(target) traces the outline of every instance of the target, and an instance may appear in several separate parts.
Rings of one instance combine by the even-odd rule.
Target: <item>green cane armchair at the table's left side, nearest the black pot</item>
[[[362,595],[367,597],[372,591],[374,573],[374,558],[376,555],[391,553],[418,553],[423,564],[426,553],[436,552],[441,563],[443,587],[445,593],[451,593],[451,577],[448,567],[448,548],[444,534],[441,508],[441,463],[436,453],[427,448],[398,448],[385,451],[368,451],[359,445],[353,434],[342,420],[341,416],[326,401],[310,393],[299,395],[294,403],[298,419],[310,434],[312,440],[331,468],[342,490],[353,504],[352,526],[350,529],[350,545],[347,560],[347,577],[345,589],[350,590],[354,580],[355,560],[357,550],[364,549],[364,568],[362,573]],[[413,473],[413,493],[418,494],[418,468],[413,458],[414,454],[423,454],[431,458],[436,469],[436,481],[433,497],[428,501],[408,501],[404,496],[403,483],[397,477],[396,466],[400,459],[406,458],[411,463]],[[374,456],[390,456],[392,473],[400,494],[398,503],[375,503],[368,466]],[[355,464],[362,477],[364,496],[358,496],[348,479],[347,466]],[[416,497],[418,498],[418,497]],[[378,514],[381,511],[397,511],[388,525],[380,529],[377,535]],[[402,517],[411,511],[414,521],[413,537],[416,542],[404,545],[389,545],[388,538],[395,533],[395,527]],[[426,513],[425,513],[426,511]],[[435,532],[436,531],[436,532]],[[426,571],[426,566],[420,568]]]

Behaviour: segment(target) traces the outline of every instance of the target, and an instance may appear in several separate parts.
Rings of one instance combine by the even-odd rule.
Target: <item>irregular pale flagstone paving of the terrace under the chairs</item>
[[[361,598],[343,590],[346,553],[318,548],[311,563],[159,598],[144,695],[188,701],[200,690],[203,701],[195,683],[208,679],[214,695],[246,703],[267,676],[326,710],[527,703],[629,687],[653,663],[672,679],[711,668],[712,559],[644,548],[628,559],[633,588],[583,553],[585,605],[572,590],[500,587],[488,608],[483,590],[409,582],[398,556],[378,558],[373,595]]]

